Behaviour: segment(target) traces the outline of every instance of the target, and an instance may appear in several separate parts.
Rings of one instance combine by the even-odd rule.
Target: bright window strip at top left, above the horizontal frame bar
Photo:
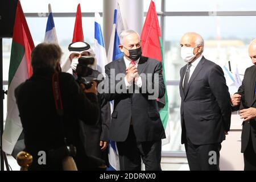
[[[102,12],[103,0],[20,0],[24,13],[48,13],[48,3],[51,3],[53,13],[76,13],[80,3],[81,12]]]

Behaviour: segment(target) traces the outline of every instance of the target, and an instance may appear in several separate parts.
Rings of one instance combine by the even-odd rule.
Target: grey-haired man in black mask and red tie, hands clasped
[[[156,98],[165,93],[162,63],[141,56],[141,40],[133,30],[120,35],[121,59],[105,66],[104,97],[114,101],[110,139],[117,142],[121,170],[161,170],[165,138]]]

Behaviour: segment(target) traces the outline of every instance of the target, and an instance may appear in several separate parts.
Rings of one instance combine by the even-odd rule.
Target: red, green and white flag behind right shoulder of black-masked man
[[[146,20],[143,25],[141,33],[142,43],[142,55],[150,57],[158,61],[162,61],[163,66],[163,79],[166,85],[166,78],[164,74],[164,59],[163,59],[163,46],[161,40],[161,31],[158,22],[158,15],[155,10],[155,3],[151,1],[150,7],[147,12]],[[160,118],[163,123],[164,130],[166,131],[166,139],[163,140],[162,144],[170,142],[170,128],[168,125],[168,96],[167,89],[164,97],[158,99],[158,105],[160,108]]]

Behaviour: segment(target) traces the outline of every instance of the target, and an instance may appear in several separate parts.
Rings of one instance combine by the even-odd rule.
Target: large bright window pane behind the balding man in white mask
[[[205,58],[221,66],[228,66],[230,61],[232,70],[238,67],[243,74],[251,65],[247,48],[255,38],[256,24],[251,24],[254,19],[254,16],[167,16],[164,40],[166,80],[180,79],[179,71],[185,63],[180,57],[179,41],[185,32],[197,32],[203,36]]]

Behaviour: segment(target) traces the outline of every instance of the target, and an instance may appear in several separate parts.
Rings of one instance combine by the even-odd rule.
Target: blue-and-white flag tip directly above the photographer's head
[[[58,44],[55,24],[53,22],[51,4],[48,5],[48,9],[49,9],[49,15],[48,15],[48,20],[46,25],[46,35],[44,36],[44,42]]]

